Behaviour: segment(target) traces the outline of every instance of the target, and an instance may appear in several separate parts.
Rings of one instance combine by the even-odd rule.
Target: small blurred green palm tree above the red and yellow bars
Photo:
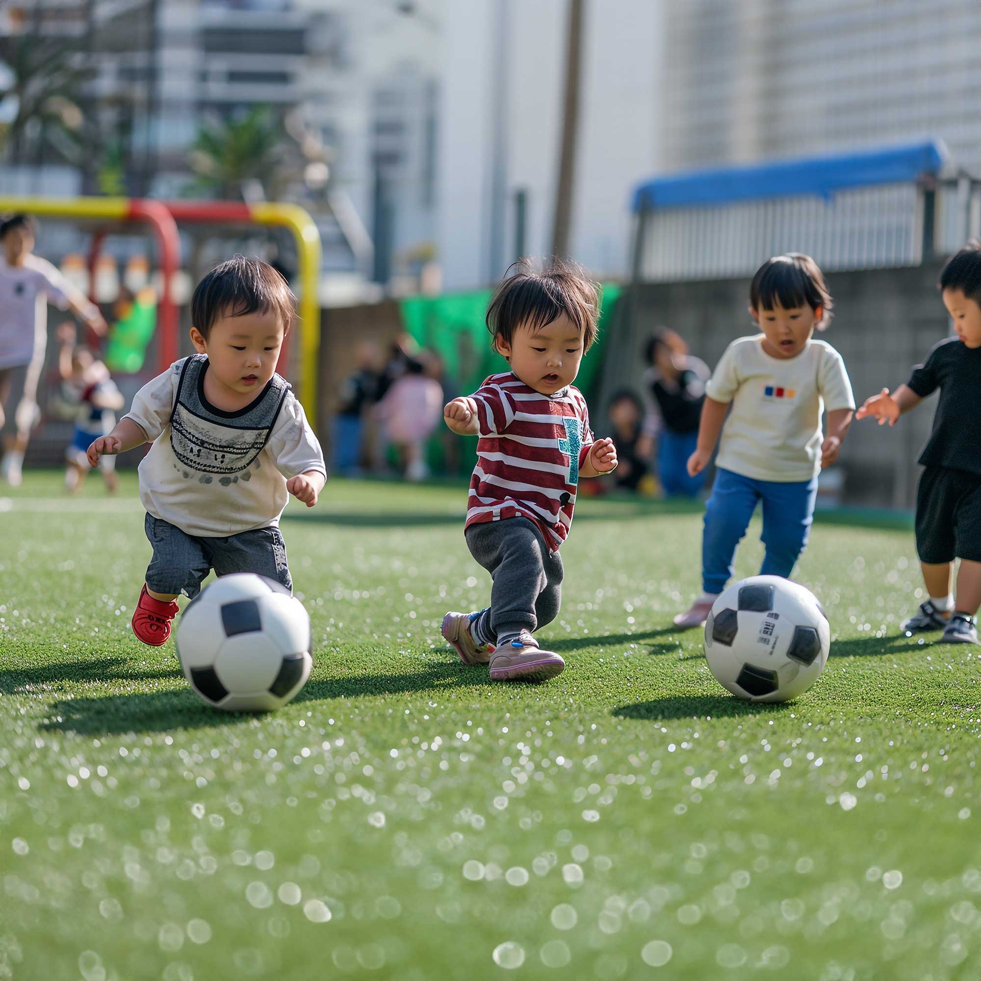
[[[191,189],[240,199],[243,185],[258,181],[266,197],[275,198],[285,177],[288,142],[282,120],[269,106],[253,106],[242,116],[205,122],[188,154],[197,175]]]

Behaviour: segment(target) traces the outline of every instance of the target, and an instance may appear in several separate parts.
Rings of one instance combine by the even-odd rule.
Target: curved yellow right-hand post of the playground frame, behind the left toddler
[[[296,204],[249,205],[257,225],[281,225],[296,239],[300,264],[300,402],[312,426],[317,425],[317,384],[320,367],[320,232]]]

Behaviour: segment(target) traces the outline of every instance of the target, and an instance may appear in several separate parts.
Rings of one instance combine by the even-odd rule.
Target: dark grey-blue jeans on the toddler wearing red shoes
[[[146,586],[154,593],[184,594],[191,599],[201,592],[201,582],[212,569],[217,576],[254,572],[293,588],[286,565],[286,544],[279,528],[256,528],[228,538],[188,535],[152,514],[144,523],[153,545],[146,570]]]

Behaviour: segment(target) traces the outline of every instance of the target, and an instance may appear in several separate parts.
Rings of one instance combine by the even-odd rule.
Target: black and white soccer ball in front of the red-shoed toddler
[[[209,705],[262,712],[306,684],[310,617],[287,589],[265,576],[222,576],[189,602],[177,633],[190,687]]]

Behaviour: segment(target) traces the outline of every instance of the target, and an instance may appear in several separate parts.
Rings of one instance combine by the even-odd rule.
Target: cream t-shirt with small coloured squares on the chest
[[[771,357],[763,336],[727,348],[705,393],[732,402],[716,466],[760,481],[809,481],[821,469],[821,415],[853,409],[842,356],[811,339],[793,358]]]

